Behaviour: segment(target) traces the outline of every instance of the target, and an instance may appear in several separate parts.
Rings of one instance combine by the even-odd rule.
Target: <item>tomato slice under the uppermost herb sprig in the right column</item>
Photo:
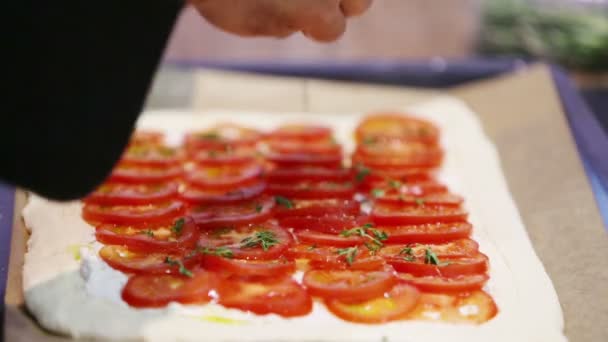
[[[434,180],[401,183],[388,180],[368,183],[372,195],[377,199],[386,198],[387,201],[396,202],[401,197],[430,196],[448,192],[448,187]]]

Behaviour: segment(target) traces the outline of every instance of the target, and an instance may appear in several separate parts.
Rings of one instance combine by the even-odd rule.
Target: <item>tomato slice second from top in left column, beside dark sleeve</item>
[[[163,145],[134,145],[127,148],[120,162],[133,166],[170,167],[180,161],[178,151],[174,148]]]

